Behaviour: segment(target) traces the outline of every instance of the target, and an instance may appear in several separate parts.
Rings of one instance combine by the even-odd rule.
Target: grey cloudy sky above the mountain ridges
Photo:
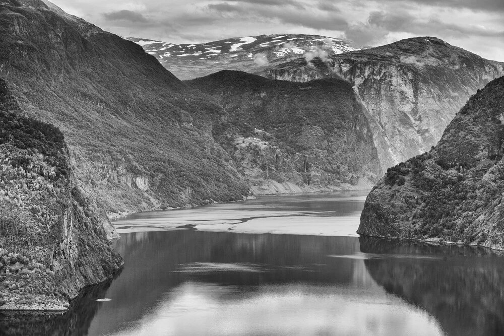
[[[436,36],[504,61],[504,0],[54,0],[122,36],[201,43],[261,34],[318,34],[377,46]]]

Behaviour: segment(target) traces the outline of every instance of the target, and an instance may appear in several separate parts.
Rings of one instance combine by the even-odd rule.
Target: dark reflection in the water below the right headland
[[[371,277],[447,335],[504,334],[504,260],[490,249],[361,237]]]

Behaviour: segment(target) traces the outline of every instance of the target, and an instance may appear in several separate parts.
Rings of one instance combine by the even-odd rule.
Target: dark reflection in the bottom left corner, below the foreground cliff
[[[119,271],[114,279],[120,274]],[[112,280],[85,288],[66,313],[48,311],[0,312],[0,335],[87,335]]]

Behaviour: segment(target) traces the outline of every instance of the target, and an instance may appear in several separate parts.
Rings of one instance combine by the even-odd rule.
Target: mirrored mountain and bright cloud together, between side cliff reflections
[[[369,277],[354,237],[138,232],[90,334],[440,335]]]

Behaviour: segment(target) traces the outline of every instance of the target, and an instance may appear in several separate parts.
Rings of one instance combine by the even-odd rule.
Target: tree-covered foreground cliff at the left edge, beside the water
[[[122,259],[77,186],[62,133],[16,110],[0,79],[0,309],[66,310]]]

